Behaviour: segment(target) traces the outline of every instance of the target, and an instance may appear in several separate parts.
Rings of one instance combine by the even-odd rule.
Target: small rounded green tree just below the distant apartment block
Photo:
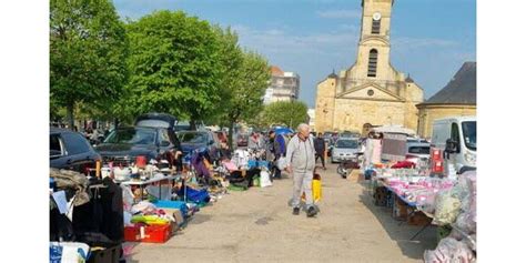
[[[277,101],[265,107],[263,119],[267,125],[295,128],[308,119],[307,105],[301,101]]]

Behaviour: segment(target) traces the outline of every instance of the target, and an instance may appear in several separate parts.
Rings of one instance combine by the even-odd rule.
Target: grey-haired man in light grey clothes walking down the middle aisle
[[[316,215],[316,209],[312,200],[312,179],[315,166],[314,142],[308,135],[310,128],[302,123],[297,127],[297,133],[286,146],[286,171],[293,176],[292,190],[292,214],[300,214],[300,198],[305,193],[306,215]]]

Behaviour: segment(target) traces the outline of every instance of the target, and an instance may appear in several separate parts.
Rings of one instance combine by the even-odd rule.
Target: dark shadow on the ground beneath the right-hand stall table
[[[392,209],[374,204],[373,195],[367,189],[368,182],[361,182],[363,192],[360,202],[376,216],[385,232],[396,241],[402,253],[411,259],[423,259],[425,250],[434,250],[437,244],[436,226],[429,225],[416,237],[409,240],[424,226],[408,225],[405,221],[397,221],[392,216]]]

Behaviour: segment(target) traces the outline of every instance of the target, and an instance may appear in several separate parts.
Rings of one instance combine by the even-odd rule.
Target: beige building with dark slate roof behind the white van
[[[441,91],[417,104],[418,129],[422,138],[431,138],[433,121],[455,115],[477,114],[477,63],[465,62]]]

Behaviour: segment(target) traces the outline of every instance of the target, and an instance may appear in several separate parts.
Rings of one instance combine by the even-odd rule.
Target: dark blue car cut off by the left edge
[[[88,169],[95,168],[97,161],[101,160],[101,155],[79,132],[50,128],[49,142],[50,168],[88,173]]]

